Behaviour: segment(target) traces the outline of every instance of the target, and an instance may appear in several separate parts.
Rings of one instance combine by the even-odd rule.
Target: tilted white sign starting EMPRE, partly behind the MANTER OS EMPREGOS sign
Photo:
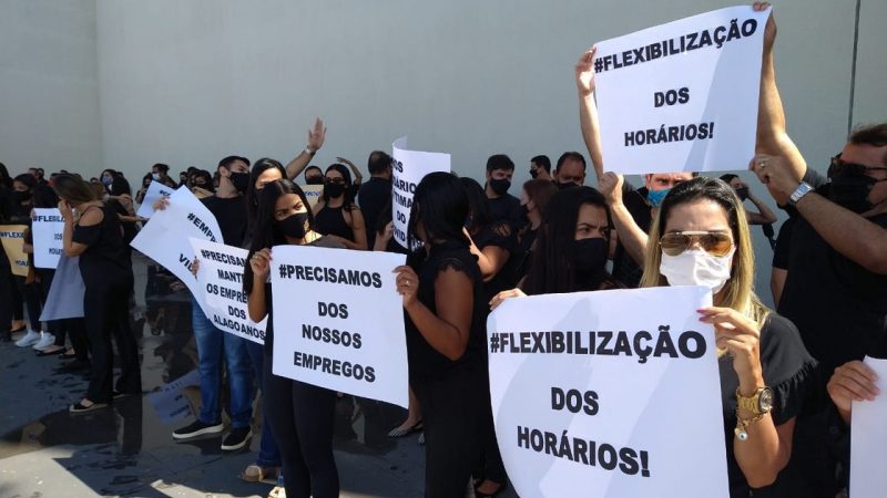
[[[188,269],[194,259],[191,237],[216,242],[222,240],[222,230],[210,209],[191,190],[180,188],[170,196],[166,209],[155,212],[130,246],[170,270],[200,302],[203,293]]]

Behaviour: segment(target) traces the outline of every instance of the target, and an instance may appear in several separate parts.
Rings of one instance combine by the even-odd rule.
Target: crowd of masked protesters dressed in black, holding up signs
[[[214,173],[188,168],[175,181],[167,165],[155,164],[134,197],[123,174],[112,169],[90,180],[64,170],[45,179],[41,168],[10,177],[0,165],[0,220],[28,225],[33,208],[58,207],[64,255],[55,271],[79,267],[85,289],[82,318],[41,324],[53,270],[31,264],[28,277],[13,277],[0,258],[0,323],[10,324],[0,331],[2,339],[21,334],[16,345],[90,370],[89,390],[70,406],[72,413],[140,394],[141,331],[131,330],[128,320],[129,242],[145,221],[134,206],[151,181],[160,181],[192,189],[218,221],[224,243],[248,250],[243,290],[249,318],[269,318],[261,345],[215,330],[194,302],[201,408],[193,423],[172,433],[190,439],[224,432],[227,400],[231,426],[222,449],[243,448],[253,437],[254,398],[262,391],[259,449],[245,479],[281,474],[289,497],[339,492],[333,454],[339,393],[271,369],[274,336],[287,332],[273,326],[271,248],[310,245],[407,255],[395,271],[410,406],[390,436],[424,432],[428,497],[463,496],[470,483],[476,496],[496,496],[508,486],[490,408],[486,319],[491,309],[533,294],[686,284],[713,294],[713,307],[687,313],[715,329],[731,496],[835,497],[847,487],[853,402],[883,395],[861,360],[887,355],[887,123],[853,132],[827,175],[808,168],[786,132],[775,35],[771,18],[757,154],[750,163],[788,216],[774,240],[775,310],[754,292],[756,264],[765,264],[761,258],[766,261],[769,253],[755,255],[751,226],[762,225],[766,234],[776,215],[735,174],[649,174],[636,188],[608,170],[590,49],[575,65],[575,84],[597,188],[587,185],[592,181],[579,152],[563,153],[553,167],[544,155],[532,157],[532,179],[517,196],[511,194],[516,165],[504,154],[489,157],[483,185],[453,174],[427,175],[409,218],[408,245],[421,246],[416,251],[392,240],[391,157],[370,153],[367,181],[340,157],[325,170],[309,166],[325,142],[319,120],[305,149],[286,165],[228,156]],[[298,183],[323,185],[316,204],[299,177]],[[26,236],[26,251],[30,243]],[[115,383],[112,339],[122,367]]]

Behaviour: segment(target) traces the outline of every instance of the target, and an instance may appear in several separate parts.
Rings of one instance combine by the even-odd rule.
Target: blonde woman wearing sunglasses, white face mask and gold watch
[[[798,496],[781,475],[815,361],[788,320],[753,291],[754,251],[742,201],[720,179],[697,177],[663,199],[650,230],[642,287],[703,286],[696,310],[715,329],[731,497]],[[756,489],[761,488],[761,489]]]

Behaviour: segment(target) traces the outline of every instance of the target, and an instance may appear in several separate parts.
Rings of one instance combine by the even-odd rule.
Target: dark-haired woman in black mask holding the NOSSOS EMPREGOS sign
[[[339,494],[339,476],[333,457],[333,428],[336,393],[299,381],[274,375],[274,310],[268,283],[271,248],[298,246],[337,247],[332,238],[314,230],[308,199],[287,179],[269,183],[258,194],[258,205],[244,269],[244,292],[248,295],[249,319],[268,318],[265,330],[263,396],[267,421],[281,450],[286,496],[328,498]],[[282,333],[293,331],[282,331]]]

